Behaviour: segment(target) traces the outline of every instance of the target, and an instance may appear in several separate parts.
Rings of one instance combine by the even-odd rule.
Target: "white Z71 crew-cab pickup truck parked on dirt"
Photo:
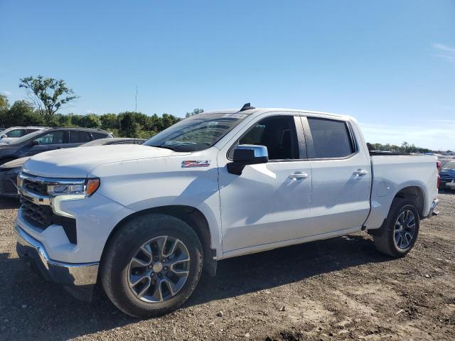
[[[249,104],[143,145],[41,153],[18,175],[17,251],[140,317],[178,308],[229,257],[362,230],[404,256],[437,205],[437,159],[371,154],[352,117]]]

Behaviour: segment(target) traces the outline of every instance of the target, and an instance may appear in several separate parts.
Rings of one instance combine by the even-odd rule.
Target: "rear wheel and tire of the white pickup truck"
[[[414,224],[414,228],[412,228],[412,224]],[[397,197],[392,201],[384,224],[382,224],[378,232],[373,233],[375,247],[382,254],[387,254],[388,256],[405,256],[414,247],[419,234],[419,227],[419,212],[414,203]],[[395,239],[396,236],[398,241]]]

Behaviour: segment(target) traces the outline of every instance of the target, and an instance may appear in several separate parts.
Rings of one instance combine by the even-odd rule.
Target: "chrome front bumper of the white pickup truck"
[[[91,301],[97,283],[99,262],[64,263],[50,259],[41,242],[27,234],[21,227],[14,227],[17,234],[18,255],[46,280],[65,286],[76,298]]]

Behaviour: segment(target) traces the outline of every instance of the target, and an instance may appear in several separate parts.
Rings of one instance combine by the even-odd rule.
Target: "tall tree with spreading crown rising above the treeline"
[[[38,77],[21,78],[19,87],[23,87],[28,92],[28,96],[40,113],[45,115],[45,121],[54,121],[55,112],[63,104],[73,102],[78,98],[73,90],[66,86],[64,80],[54,78]]]

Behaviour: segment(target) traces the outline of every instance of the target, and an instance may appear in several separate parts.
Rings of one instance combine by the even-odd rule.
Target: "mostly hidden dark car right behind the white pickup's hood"
[[[107,138],[97,139],[86,144],[81,144],[80,147],[86,146],[108,146],[112,144],[143,144],[144,139],[130,139],[130,138]],[[23,163],[25,163],[31,156],[25,158],[16,158],[16,160],[9,161],[0,166],[0,196],[3,197],[18,197],[16,186],[16,178],[21,171]]]

